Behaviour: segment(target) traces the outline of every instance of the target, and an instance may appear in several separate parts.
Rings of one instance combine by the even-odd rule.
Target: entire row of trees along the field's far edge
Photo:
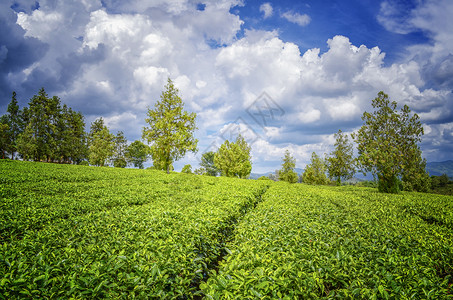
[[[12,159],[17,153],[24,160],[138,168],[151,158],[153,168],[169,173],[173,163],[187,152],[196,153],[198,144],[194,138],[196,114],[184,110],[178,93],[169,78],[160,100],[147,111],[148,126],[142,130],[142,140],[147,144],[137,140],[128,145],[123,132],[112,134],[102,118],[95,120],[86,133],[84,116],[61,105],[58,97],[48,97],[44,88],[22,110],[13,92],[7,114],[0,117],[0,153]],[[372,106],[374,111],[363,113],[364,124],[351,135],[357,144],[357,157],[349,136],[339,130],[334,151],[325,158],[312,153],[300,176],[294,171],[295,158],[286,150],[282,168],[272,179],[308,184],[334,181],[340,185],[361,171],[373,174],[381,192],[427,191],[430,178],[418,146],[423,135],[418,115],[411,114],[407,105],[398,112],[397,103],[384,92],[372,100]],[[194,173],[248,178],[252,170],[250,152],[251,146],[239,135],[236,141],[226,140],[216,152],[204,153]],[[192,173],[192,167],[186,165],[182,171]]]

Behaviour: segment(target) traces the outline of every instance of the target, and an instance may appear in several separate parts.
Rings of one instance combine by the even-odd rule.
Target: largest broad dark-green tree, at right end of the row
[[[419,116],[411,116],[407,105],[398,113],[397,103],[390,102],[382,91],[372,101],[372,106],[375,111],[363,113],[364,124],[354,135],[358,144],[358,162],[364,174],[372,172],[377,175],[380,192],[397,193],[400,178],[410,180],[414,172],[421,177],[426,173],[417,145],[423,127]]]

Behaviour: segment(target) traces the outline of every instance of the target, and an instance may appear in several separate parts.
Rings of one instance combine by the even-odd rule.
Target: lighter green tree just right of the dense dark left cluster
[[[103,167],[114,154],[115,136],[110,133],[105,125],[99,131],[96,128],[98,125],[99,122],[95,121],[91,126],[88,158],[91,165]]]

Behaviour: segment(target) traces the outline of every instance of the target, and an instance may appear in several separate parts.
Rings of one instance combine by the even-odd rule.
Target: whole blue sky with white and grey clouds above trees
[[[198,153],[240,133],[252,172],[330,153],[384,91],[420,116],[428,161],[453,159],[451,0],[0,2],[0,114],[41,87],[141,138],[171,78],[197,114]]]

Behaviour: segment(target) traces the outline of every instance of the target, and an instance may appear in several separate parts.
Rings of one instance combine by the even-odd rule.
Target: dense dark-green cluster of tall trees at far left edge
[[[25,160],[78,163],[87,155],[83,115],[66,105],[62,107],[60,99],[50,98],[44,88],[23,110],[13,92],[1,123],[9,127],[2,151],[11,158],[17,152]]]

